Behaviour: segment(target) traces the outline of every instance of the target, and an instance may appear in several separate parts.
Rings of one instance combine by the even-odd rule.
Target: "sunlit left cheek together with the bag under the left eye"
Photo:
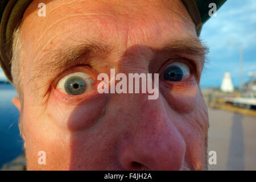
[[[74,131],[92,127],[97,118],[104,115],[107,98],[106,94],[99,94],[91,100],[80,102],[77,106],[50,98],[46,110],[41,115],[36,114],[38,107],[30,106],[24,109],[23,127],[28,169],[69,169],[73,155]],[[46,165],[38,164],[39,151],[46,152]]]

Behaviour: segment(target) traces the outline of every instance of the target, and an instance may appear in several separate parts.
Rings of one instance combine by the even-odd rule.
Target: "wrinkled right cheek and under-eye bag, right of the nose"
[[[191,82],[189,85],[173,85],[168,91],[163,88],[167,88],[164,84],[160,89],[172,110],[169,117],[173,117],[174,111],[178,114],[173,122],[187,145],[185,161],[191,169],[204,169],[209,123],[207,106],[199,86]]]

